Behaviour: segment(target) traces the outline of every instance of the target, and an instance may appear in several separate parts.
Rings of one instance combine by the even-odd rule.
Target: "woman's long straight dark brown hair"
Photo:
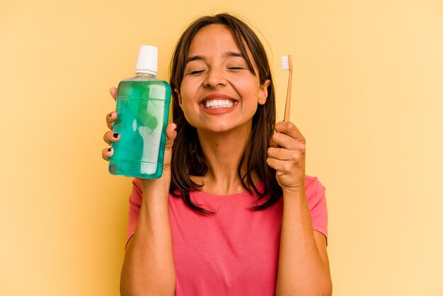
[[[270,84],[267,86],[267,100],[264,105],[258,104],[257,111],[253,115],[251,137],[246,143],[238,164],[238,177],[243,188],[248,190],[249,193],[253,193],[254,190],[260,196],[259,200],[267,197],[265,203],[251,207],[251,210],[264,210],[275,204],[282,195],[282,188],[275,178],[275,170],[267,166],[266,163],[267,148],[275,127],[274,85],[265,48],[257,35],[246,23],[227,13],[220,13],[216,16],[203,16],[191,23],[181,35],[173,53],[170,84],[171,89],[175,90],[172,92],[173,122],[177,124],[177,137],[173,144],[170,192],[173,196],[183,198],[185,204],[192,210],[204,214],[212,213],[192,203],[192,200],[190,200],[190,192],[200,190],[203,186],[193,182],[190,176],[205,176],[207,173],[207,161],[200,147],[197,130],[185,119],[183,110],[178,104],[177,92],[180,91],[192,38],[201,28],[214,24],[226,25],[231,30],[236,45],[243,57],[245,57],[249,69],[254,75],[257,75],[253,69],[253,63],[249,58],[247,49],[251,52],[253,61],[258,69],[260,84],[265,84],[267,79],[270,80]],[[263,181],[265,188],[263,192],[260,192],[253,183],[253,171],[258,175],[260,181]]]

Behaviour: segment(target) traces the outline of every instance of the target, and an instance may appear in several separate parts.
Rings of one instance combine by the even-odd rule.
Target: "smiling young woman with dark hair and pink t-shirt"
[[[305,176],[297,127],[275,123],[253,30],[225,13],[197,19],[170,84],[163,175],[133,181],[122,295],[330,295],[325,189]]]

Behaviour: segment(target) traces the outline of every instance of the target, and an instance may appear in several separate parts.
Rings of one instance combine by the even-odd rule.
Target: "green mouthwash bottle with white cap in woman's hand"
[[[171,86],[156,78],[157,47],[142,45],[134,77],[120,81],[117,89],[117,120],[114,154],[109,171],[114,175],[160,178],[166,144]]]

